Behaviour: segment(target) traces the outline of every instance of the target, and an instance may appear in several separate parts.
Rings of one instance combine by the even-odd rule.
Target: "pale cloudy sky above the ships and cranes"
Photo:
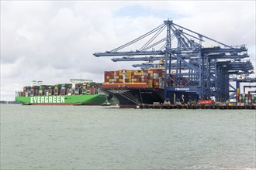
[[[130,69],[92,53],[115,49],[165,19],[228,45],[246,44],[255,62],[255,1],[1,1],[1,100],[32,80],[103,81]]]

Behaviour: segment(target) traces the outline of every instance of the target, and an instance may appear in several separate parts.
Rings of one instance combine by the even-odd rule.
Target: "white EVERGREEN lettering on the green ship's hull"
[[[64,96],[42,96],[42,97],[30,97],[31,104],[64,104]]]

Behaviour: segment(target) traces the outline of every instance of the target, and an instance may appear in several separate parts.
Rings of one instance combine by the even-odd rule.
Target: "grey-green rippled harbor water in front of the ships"
[[[2,104],[0,169],[255,169],[255,117]]]

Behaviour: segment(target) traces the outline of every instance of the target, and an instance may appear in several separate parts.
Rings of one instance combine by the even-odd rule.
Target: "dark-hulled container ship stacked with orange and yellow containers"
[[[119,107],[164,103],[164,69],[105,71],[104,79],[102,92],[116,100]],[[186,79],[182,79],[186,83]],[[182,97],[198,99],[198,94],[175,92],[175,98]],[[171,100],[175,100],[174,97]]]

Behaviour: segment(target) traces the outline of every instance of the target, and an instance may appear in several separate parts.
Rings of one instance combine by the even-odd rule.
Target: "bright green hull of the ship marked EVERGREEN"
[[[100,105],[106,101],[106,95],[16,97],[16,101],[27,105]]]

